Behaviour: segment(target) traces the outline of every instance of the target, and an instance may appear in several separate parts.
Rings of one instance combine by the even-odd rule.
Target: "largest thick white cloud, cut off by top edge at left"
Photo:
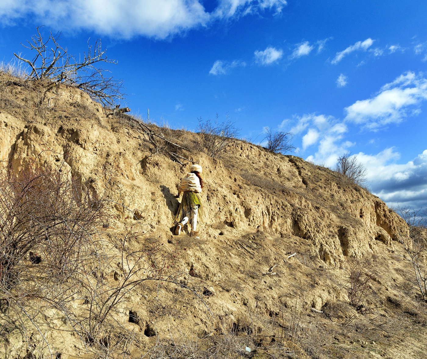
[[[9,0],[8,0],[9,1]],[[15,18],[31,16],[38,23],[61,24],[69,29],[88,29],[103,35],[131,38],[144,35],[166,38],[197,26],[205,26],[210,15],[197,0],[16,0]],[[18,9],[18,10],[16,10]],[[1,18],[9,18],[7,7]]]

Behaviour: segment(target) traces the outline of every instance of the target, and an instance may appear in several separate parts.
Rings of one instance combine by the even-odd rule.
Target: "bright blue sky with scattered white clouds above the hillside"
[[[227,113],[242,138],[294,134],[296,156],[351,151],[390,205],[427,206],[427,2],[3,0],[0,62],[35,34],[102,39],[132,113],[172,128]]]

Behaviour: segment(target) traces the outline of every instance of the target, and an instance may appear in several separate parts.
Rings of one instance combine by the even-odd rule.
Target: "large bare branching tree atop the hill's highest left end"
[[[123,81],[106,76],[109,71],[99,67],[101,63],[117,63],[107,58],[101,40],[95,41],[94,46],[88,41],[88,51],[82,57],[76,57],[59,44],[60,35],[60,32],[56,34],[50,32],[46,38],[41,33],[40,27],[37,27],[37,34],[31,41],[22,44],[35,53],[34,57],[25,59],[14,53],[20,61],[29,66],[31,71],[28,77],[33,80],[73,85],[104,105],[111,105],[116,100],[122,99]]]

